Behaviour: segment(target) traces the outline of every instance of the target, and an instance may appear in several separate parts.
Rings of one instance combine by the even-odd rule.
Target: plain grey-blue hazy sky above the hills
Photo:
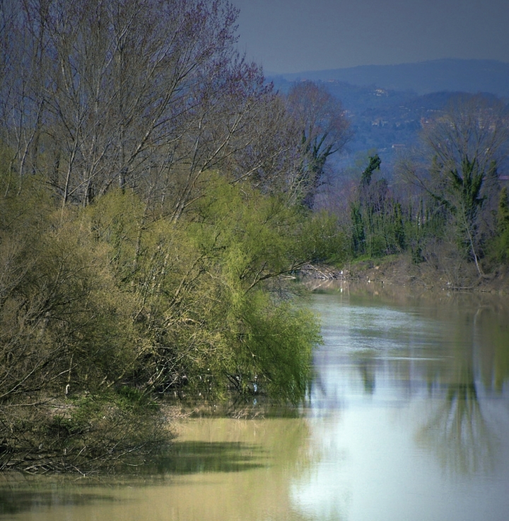
[[[439,58],[509,62],[509,0],[230,0],[266,72]]]

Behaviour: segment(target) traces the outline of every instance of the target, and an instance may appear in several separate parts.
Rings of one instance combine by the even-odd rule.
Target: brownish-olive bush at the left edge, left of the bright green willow
[[[2,394],[93,389],[129,360],[129,298],[115,287],[104,244],[79,213],[23,195],[3,215],[0,246]],[[35,224],[35,222],[37,224]]]

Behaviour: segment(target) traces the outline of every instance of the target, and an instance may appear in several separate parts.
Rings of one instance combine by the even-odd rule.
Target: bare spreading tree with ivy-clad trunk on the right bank
[[[482,275],[479,223],[507,153],[507,110],[496,98],[457,96],[423,128],[421,139],[428,166],[407,165],[406,176],[448,212],[460,251]]]

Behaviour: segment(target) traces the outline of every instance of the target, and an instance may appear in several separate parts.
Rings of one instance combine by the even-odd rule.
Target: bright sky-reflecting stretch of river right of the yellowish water
[[[320,520],[505,519],[503,301],[372,285],[322,292],[315,307],[325,340],[308,415],[317,459],[293,485],[296,504]]]

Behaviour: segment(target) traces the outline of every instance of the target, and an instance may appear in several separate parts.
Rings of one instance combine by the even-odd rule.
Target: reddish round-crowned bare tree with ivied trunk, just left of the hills
[[[327,159],[344,149],[351,137],[350,124],[341,103],[321,84],[295,84],[287,103],[301,134],[298,184],[302,201],[312,207]]]

